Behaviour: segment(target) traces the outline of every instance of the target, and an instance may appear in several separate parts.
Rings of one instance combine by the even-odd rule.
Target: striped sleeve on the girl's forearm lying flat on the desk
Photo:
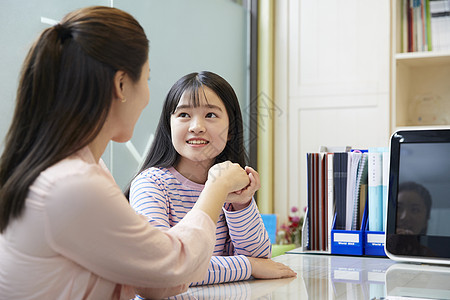
[[[243,255],[213,256],[205,279],[193,282],[191,286],[247,280],[251,273],[251,264]]]

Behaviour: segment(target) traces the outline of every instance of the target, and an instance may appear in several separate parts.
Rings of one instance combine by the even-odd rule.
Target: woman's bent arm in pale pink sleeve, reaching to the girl
[[[52,194],[45,206],[49,245],[112,282],[165,288],[201,280],[215,243],[216,224],[211,217],[220,212],[226,198],[222,194],[247,184],[243,176],[233,181],[230,172],[223,175],[228,176],[228,184],[218,189],[220,193],[213,194],[215,185],[209,185],[209,202],[215,204],[202,201],[204,206],[165,232],[137,217],[99,166],[60,178],[51,183]],[[217,212],[216,202],[220,204]]]

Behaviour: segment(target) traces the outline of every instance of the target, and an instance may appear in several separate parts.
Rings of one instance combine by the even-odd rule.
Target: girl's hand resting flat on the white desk
[[[270,258],[247,257],[252,265],[252,276],[258,279],[295,277],[297,273],[288,266]]]

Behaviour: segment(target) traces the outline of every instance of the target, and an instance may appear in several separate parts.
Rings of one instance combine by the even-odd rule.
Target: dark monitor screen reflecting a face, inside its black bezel
[[[450,237],[450,143],[400,145],[396,233]]]

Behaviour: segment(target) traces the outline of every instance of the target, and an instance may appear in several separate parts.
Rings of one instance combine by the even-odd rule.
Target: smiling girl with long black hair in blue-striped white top
[[[186,216],[202,192],[208,169],[225,160],[246,164],[239,102],[233,88],[211,72],[191,73],[170,89],[153,145],[132,181],[132,207],[151,225],[169,229]],[[271,245],[253,194],[258,173],[245,167],[250,184],[231,193],[216,230],[208,274],[193,285],[295,276],[268,259]],[[217,179],[219,180],[219,179]]]

